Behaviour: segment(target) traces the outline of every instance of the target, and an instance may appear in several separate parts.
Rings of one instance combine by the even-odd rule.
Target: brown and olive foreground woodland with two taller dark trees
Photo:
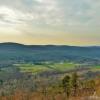
[[[29,77],[28,77],[29,78]],[[26,82],[28,82],[27,85]],[[34,82],[37,84],[34,86]],[[49,82],[49,79],[29,78],[20,80],[20,87],[15,87],[15,83],[9,82],[9,87],[1,91],[0,100],[99,100],[100,78],[84,80],[77,73],[64,75],[56,82]],[[17,81],[14,81],[17,82]],[[33,82],[30,84],[30,82]],[[49,82],[49,84],[48,84]],[[18,84],[19,82],[17,82]],[[11,86],[12,85],[12,86]],[[33,86],[33,87],[31,87]],[[7,90],[8,89],[8,90]],[[6,94],[5,94],[6,93]]]

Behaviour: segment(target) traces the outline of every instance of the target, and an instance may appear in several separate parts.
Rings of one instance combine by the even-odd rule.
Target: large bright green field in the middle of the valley
[[[21,72],[44,72],[48,70],[56,70],[56,71],[66,71],[75,69],[75,63],[53,63],[53,64],[19,64],[17,67],[20,69]]]

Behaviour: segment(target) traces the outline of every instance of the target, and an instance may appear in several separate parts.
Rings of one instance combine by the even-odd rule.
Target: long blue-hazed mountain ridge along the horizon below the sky
[[[24,45],[11,42],[0,43],[0,63],[64,60],[100,60],[100,47],[78,47],[66,45]]]

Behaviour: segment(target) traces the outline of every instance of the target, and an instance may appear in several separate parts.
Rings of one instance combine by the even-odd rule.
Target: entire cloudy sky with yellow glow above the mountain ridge
[[[0,0],[0,42],[100,45],[100,0]]]

